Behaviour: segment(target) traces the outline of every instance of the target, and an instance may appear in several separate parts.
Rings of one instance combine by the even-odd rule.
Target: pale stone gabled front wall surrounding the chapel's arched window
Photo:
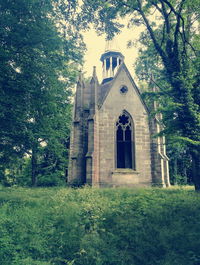
[[[128,87],[126,94],[120,93],[123,85]],[[136,172],[116,171],[116,121],[123,110],[134,122]],[[101,186],[151,185],[152,182],[148,113],[125,68],[113,81],[99,110],[99,182]]]

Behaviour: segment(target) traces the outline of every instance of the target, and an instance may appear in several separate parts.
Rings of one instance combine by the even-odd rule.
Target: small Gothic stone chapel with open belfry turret
[[[161,130],[160,116],[150,117],[119,50],[108,44],[100,60],[101,84],[95,67],[89,84],[82,74],[77,82],[68,183],[169,186],[165,137],[153,137]]]

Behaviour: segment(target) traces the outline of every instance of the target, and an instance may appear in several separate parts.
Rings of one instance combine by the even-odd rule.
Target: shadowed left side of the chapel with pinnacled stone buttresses
[[[68,183],[98,184],[98,97],[96,68],[89,84],[80,73],[77,82],[70,137]]]

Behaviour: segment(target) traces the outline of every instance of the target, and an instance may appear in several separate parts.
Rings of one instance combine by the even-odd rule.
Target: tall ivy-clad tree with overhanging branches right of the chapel
[[[193,180],[200,190],[200,98],[199,37],[200,7],[196,0],[85,0],[84,19],[106,31],[109,38],[120,32],[120,17],[129,16],[133,25],[145,25],[154,51],[160,57],[173,108],[164,133],[184,141],[193,161]],[[152,19],[156,14],[159,19]],[[157,22],[157,23],[156,23]]]

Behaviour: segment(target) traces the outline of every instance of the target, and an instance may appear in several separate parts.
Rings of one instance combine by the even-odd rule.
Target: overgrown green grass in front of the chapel
[[[193,189],[3,188],[1,265],[200,265]]]

